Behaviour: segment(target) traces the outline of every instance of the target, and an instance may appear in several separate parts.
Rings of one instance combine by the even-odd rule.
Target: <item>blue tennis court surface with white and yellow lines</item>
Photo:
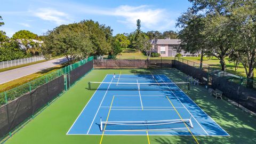
[[[165,75],[106,75],[67,134],[229,135],[170,83]]]

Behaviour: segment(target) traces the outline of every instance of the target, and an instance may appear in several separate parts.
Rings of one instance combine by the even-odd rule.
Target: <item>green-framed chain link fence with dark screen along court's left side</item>
[[[93,69],[93,57],[0,93],[0,142]]]

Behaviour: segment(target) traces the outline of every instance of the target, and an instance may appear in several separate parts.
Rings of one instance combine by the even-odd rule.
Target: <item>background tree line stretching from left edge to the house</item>
[[[0,17],[2,20],[2,17]],[[4,22],[1,22],[1,26]],[[38,36],[28,30],[20,30],[12,38],[0,33],[0,61],[13,60],[32,55],[43,54],[46,58],[65,55],[70,63],[74,60],[86,58],[90,55],[115,56],[123,49],[131,48],[144,52],[148,57],[151,54],[150,39],[177,38],[174,31],[148,31],[140,29],[140,20],[137,20],[137,29],[130,34],[113,36],[113,29],[93,20],[83,20],[69,25],[61,25]],[[33,39],[42,41],[37,43]],[[115,58],[115,57],[113,57]]]

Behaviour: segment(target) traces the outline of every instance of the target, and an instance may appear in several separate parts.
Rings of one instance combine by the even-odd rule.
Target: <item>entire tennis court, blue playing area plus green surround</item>
[[[114,73],[116,78],[113,78]],[[121,77],[119,77],[120,73]],[[190,85],[190,90],[188,90],[186,83],[177,83],[186,82],[185,77],[186,75],[177,69],[94,69],[5,143],[196,143],[188,129],[183,129],[186,127],[183,122],[175,121],[177,122],[175,125],[166,124],[171,120],[178,118],[180,121],[181,119],[173,110],[173,106],[186,121],[189,130],[199,143],[255,143],[255,118],[248,116],[226,101],[215,100],[201,85]],[[138,91],[137,79],[140,91]],[[91,83],[91,90],[89,90],[88,82],[100,83]],[[109,86],[110,82],[112,84]],[[178,87],[170,84],[171,82],[175,82]],[[95,89],[98,90],[95,91]],[[187,110],[182,109],[181,103]],[[110,107],[111,110],[109,110]],[[191,118],[193,128],[187,121],[191,117],[188,111],[194,116]],[[230,136],[223,137],[222,135],[228,134],[208,115]],[[100,117],[102,118],[102,131],[100,130]],[[113,121],[115,121],[114,124],[108,123]],[[131,123],[128,123],[129,126],[118,127],[116,121],[119,122],[118,124]],[[134,123],[137,127],[131,125]],[[159,125],[156,126],[157,123]],[[87,134],[90,126],[91,129]],[[143,130],[145,127],[147,130]],[[181,129],[174,130],[173,128]]]

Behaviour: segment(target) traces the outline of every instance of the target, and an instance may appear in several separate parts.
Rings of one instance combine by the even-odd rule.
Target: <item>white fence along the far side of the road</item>
[[[0,69],[19,66],[26,63],[35,62],[35,61],[44,60],[44,59],[45,58],[43,56],[38,56],[38,57],[30,57],[30,58],[17,59],[17,60],[2,61],[0,62]]]

